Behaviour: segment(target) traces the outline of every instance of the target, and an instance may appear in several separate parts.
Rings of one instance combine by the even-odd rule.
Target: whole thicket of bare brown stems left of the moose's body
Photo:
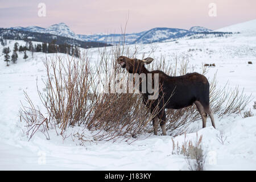
[[[33,129],[32,135],[36,131],[34,128],[39,126],[41,121],[59,127],[61,135],[69,126],[82,125],[84,129],[97,131],[90,136],[94,140],[110,140],[121,136],[136,137],[137,134],[151,133],[148,122],[157,111],[149,113],[144,107],[141,94],[98,92],[98,74],[103,72],[110,75],[110,71],[114,71],[116,75],[121,72],[115,60],[117,54],[123,50],[113,47],[111,51],[114,53],[106,54],[106,49],[103,49],[99,53],[100,63],[93,68],[86,54],[80,59],[64,59],[56,55],[55,59],[51,57],[44,61],[47,72],[47,80],[44,82],[46,92],[40,92],[38,89],[38,94],[47,111],[47,119],[44,119],[39,111],[36,112],[30,99],[28,109],[34,113],[31,114],[23,106],[20,115],[22,121],[31,123],[29,131]],[[114,82],[118,81],[117,78],[108,78],[109,82],[113,79]],[[40,121],[38,118],[41,118]],[[76,136],[79,136],[80,140],[86,140],[82,134]]]

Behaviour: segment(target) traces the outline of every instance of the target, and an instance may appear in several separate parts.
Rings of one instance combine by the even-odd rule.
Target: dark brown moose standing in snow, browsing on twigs
[[[157,135],[158,123],[162,129],[163,135],[166,135],[166,112],[165,109],[181,109],[184,107],[196,105],[201,118],[203,120],[203,128],[206,127],[207,114],[215,127],[213,111],[209,104],[209,82],[207,78],[199,73],[187,73],[183,76],[168,76],[166,73],[156,70],[148,71],[145,64],[150,64],[154,59],[147,57],[143,60],[130,59],[126,56],[119,56],[117,63],[121,68],[126,69],[129,73],[144,73],[146,77],[148,73],[158,74],[159,78],[159,96],[155,100],[148,101],[148,92],[142,93],[144,104],[149,107],[150,112],[158,109],[157,114],[152,118],[154,127],[154,135]],[[152,83],[152,85],[154,85]],[[141,83],[140,83],[141,92]],[[148,104],[150,103],[150,104]],[[158,122],[159,119],[159,122]]]

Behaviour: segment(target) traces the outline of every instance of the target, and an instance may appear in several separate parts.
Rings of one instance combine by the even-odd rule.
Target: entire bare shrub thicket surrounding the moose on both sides
[[[149,55],[154,54],[152,48]],[[118,78],[112,78],[118,73],[126,73],[118,67],[115,60],[120,55],[137,57],[138,47],[133,51],[126,46],[113,46],[98,49],[98,62],[90,63],[89,56],[85,52],[79,59],[74,57],[55,56],[44,61],[47,71],[47,80],[44,82],[46,92],[38,94],[46,117],[36,110],[32,101],[28,107],[21,110],[20,120],[30,123],[31,128],[38,127],[40,123],[49,127],[59,127],[63,134],[68,127],[81,126],[83,130],[92,131],[90,138],[94,140],[115,140],[119,137],[137,137],[140,134],[152,133],[151,120],[157,114],[157,110],[150,114],[142,101],[141,94],[133,93],[98,93],[100,78],[104,73],[111,81],[118,82]],[[145,56],[145,55],[143,55]],[[193,72],[195,67],[188,62],[189,57],[174,55],[172,60],[166,60],[165,56],[156,58],[155,63],[149,69],[160,69],[171,76],[185,75]],[[175,62],[174,65],[171,63]],[[203,74],[207,68],[202,65]],[[113,80],[114,79],[114,80]],[[227,86],[217,88],[216,76],[210,82],[210,105],[218,117],[239,113],[250,101],[238,88],[232,90]],[[125,86],[125,85],[123,85]],[[28,97],[27,97],[28,98]],[[200,118],[195,105],[180,110],[169,109],[167,114],[167,131],[176,136],[188,131],[191,122]],[[47,119],[46,119],[47,118]],[[160,127],[159,127],[160,128]],[[34,135],[34,129],[30,130]],[[31,134],[31,133],[30,133]],[[76,136],[80,140],[86,139],[80,133]],[[30,135],[32,137],[32,135]]]

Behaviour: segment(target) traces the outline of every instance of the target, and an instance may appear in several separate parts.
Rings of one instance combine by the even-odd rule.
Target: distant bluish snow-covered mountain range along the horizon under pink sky
[[[64,36],[67,38],[77,39],[85,42],[103,42],[110,44],[118,44],[123,42],[123,34],[92,34],[92,35],[77,35],[73,32],[65,23],[58,23],[49,26],[48,28],[42,28],[38,26],[30,27],[11,27],[10,30],[22,30],[29,32],[39,32],[44,34],[52,34]],[[142,31],[133,34],[125,35],[125,42],[127,44],[133,43],[151,43],[151,42],[163,42],[164,40],[171,40],[181,38],[183,36],[190,36],[197,34],[198,32],[209,32],[208,28],[204,27],[191,27],[189,30],[180,28],[152,28],[148,31]]]

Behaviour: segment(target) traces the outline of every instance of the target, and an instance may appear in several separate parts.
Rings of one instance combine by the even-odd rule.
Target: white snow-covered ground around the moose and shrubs
[[[243,27],[246,27],[245,25]],[[240,31],[242,32],[242,31]],[[155,61],[165,55],[166,61],[174,61],[173,55],[186,55],[189,64],[200,70],[201,64],[216,64],[209,68],[207,77],[213,78],[217,71],[218,86],[229,81],[231,88],[240,86],[246,94],[252,94],[256,101],[256,34],[246,36],[234,34],[228,38],[180,39],[176,42],[139,44],[138,58],[149,55],[156,49]],[[15,42],[7,41],[13,49]],[[133,46],[131,46],[133,47]],[[0,51],[2,52],[2,46]],[[27,52],[28,53],[28,52]],[[92,60],[97,60],[98,48],[89,49]],[[28,141],[24,134],[25,123],[19,122],[20,101],[24,101],[23,90],[39,105],[36,79],[46,78],[42,60],[54,54],[28,53],[27,61],[19,53],[17,64],[6,67],[0,53],[0,169],[75,169],[75,170],[188,170],[183,155],[172,154],[170,136],[153,136],[127,142],[88,142],[80,146],[69,137],[63,141],[54,131],[50,140],[37,133]],[[10,53],[11,55],[11,53]],[[65,56],[65,55],[63,55]],[[253,64],[247,64],[252,61]],[[40,85],[39,85],[40,87]],[[42,88],[40,88],[42,89]],[[207,159],[206,170],[255,170],[256,169],[256,110],[253,101],[246,109],[251,109],[254,117],[242,118],[242,114],[219,119],[216,117],[215,130],[208,118],[207,127],[201,129],[201,121],[193,123],[195,132],[187,134],[186,139],[196,140],[203,135],[203,148]],[[76,128],[79,130],[79,128]],[[223,135],[224,143],[220,142]],[[174,138],[182,144],[184,135]]]

